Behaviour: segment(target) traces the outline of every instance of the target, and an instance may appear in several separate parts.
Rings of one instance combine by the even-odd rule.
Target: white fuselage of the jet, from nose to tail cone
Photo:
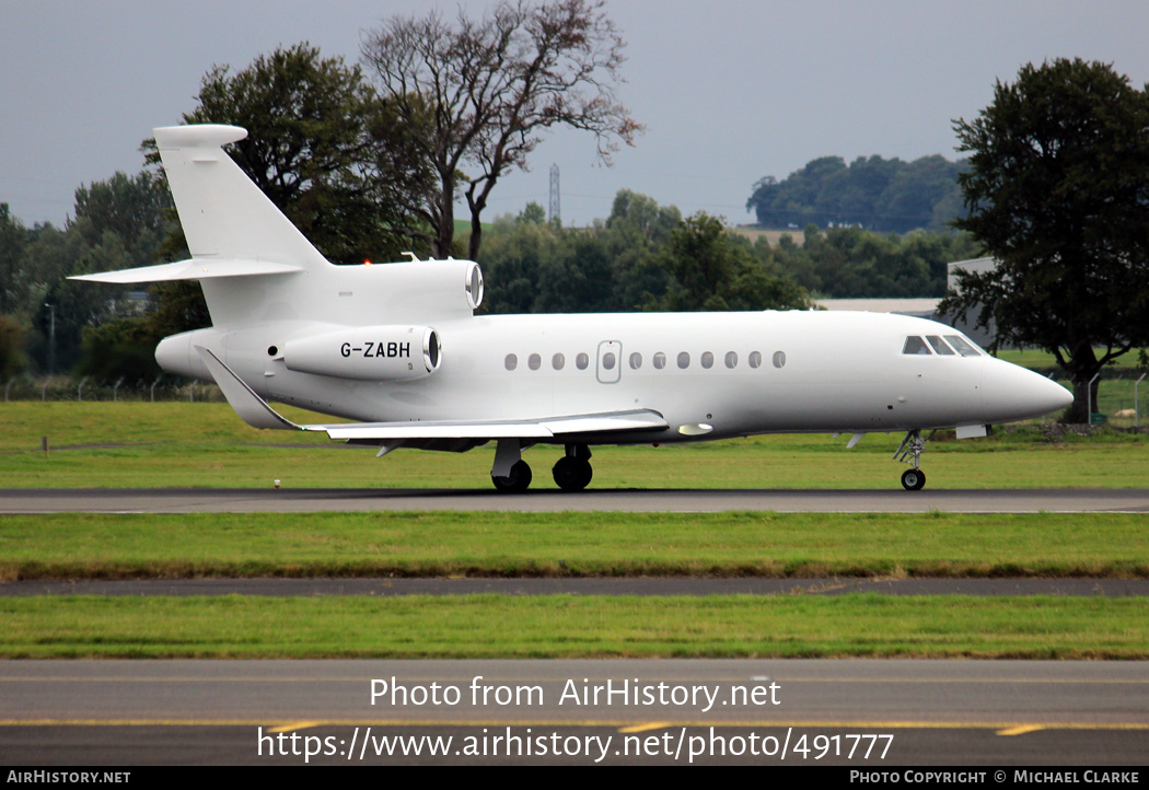
[[[442,358],[423,378],[371,381],[288,367],[280,351],[296,338],[330,334],[332,363],[350,355],[361,371],[384,370],[404,350],[383,336],[337,343],[338,328],[271,322],[200,330],[167,339],[157,358],[171,372],[211,381],[190,350],[202,344],[268,400],[370,423],[650,409],[671,426],[611,443],[1005,423],[1063,405],[1065,394],[984,354],[907,354],[907,338],[958,333],[884,313],[475,316],[434,324]]]

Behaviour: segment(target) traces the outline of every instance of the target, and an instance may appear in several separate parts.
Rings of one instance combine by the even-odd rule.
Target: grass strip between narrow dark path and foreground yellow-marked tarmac
[[[1149,658],[1149,601],[0,598],[3,658]]]

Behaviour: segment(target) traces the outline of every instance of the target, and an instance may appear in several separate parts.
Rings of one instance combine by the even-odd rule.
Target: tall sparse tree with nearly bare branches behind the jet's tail
[[[403,230],[434,255],[453,253],[455,201],[464,196],[469,256],[478,256],[491,191],[508,170],[526,169],[545,130],[593,133],[608,164],[619,141],[633,145],[641,126],[614,95],[625,45],[603,6],[503,0],[483,20],[462,9],[454,25],[439,11],[394,16],[368,37],[363,59],[386,108],[379,171],[410,177],[416,222]]]

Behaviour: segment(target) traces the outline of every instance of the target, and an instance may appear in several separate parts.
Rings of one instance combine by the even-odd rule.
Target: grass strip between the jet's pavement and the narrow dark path
[[[0,517],[0,580],[199,576],[1149,578],[1140,514]]]

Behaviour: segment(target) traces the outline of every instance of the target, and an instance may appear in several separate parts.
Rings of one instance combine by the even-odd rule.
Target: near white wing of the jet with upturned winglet
[[[282,416],[236,375],[210,349],[196,346],[228,403],[256,428],[323,431],[339,440],[550,439],[555,436],[665,431],[665,418],[650,409],[596,415],[562,415],[529,420],[442,420],[408,423],[331,423],[299,425]]]

